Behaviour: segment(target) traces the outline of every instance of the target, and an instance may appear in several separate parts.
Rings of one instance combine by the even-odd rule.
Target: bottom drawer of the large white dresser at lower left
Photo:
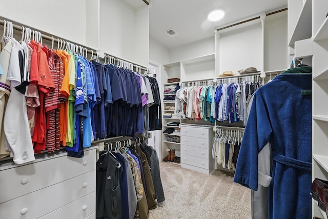
[[[87,194],[64,207],[58,208],[39,219],[85,218],[96,212],[96,192]]]

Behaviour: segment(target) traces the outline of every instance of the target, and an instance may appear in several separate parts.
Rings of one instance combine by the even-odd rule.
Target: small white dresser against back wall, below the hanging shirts
[[[181,125],[181,167],[210,174],[214,132],[210,126]]]

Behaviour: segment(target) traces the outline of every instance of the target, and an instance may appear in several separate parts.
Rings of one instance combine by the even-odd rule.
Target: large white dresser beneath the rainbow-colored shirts
[[[0,166],[0,218],[95,218],[97,147],[83,158],[64,151]]]

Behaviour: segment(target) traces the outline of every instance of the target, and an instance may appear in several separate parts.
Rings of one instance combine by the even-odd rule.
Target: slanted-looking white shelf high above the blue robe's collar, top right
[[[306,0],[288,46],[294,48],[295,41],[312,36],[312,0]]]

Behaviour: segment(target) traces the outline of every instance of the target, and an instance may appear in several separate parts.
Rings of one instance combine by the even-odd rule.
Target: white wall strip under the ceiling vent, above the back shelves
[[[170,49],[170,63],[215,53],[215,35],[191,44]]]

